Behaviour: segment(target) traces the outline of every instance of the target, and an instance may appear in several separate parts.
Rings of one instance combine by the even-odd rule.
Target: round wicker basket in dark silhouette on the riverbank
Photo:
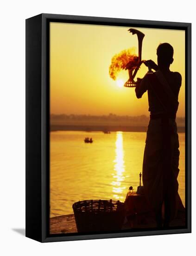
[[[73,204],[78,232],[120,230],[125,217],[124,203],[112,200],[84,200]]]

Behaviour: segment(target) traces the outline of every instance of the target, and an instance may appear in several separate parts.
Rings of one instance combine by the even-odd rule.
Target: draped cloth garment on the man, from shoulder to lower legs
[[[145,143],[143,184],[155,212],[167,200],[170,220],[177,214],[179,141],[175,121],[178,101],[161,71],[147,75],[149,89],[163,106],[163,113],[151,114]]]

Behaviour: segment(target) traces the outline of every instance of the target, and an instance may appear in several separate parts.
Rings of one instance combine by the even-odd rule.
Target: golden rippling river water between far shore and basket
[[[85,199],[124,202],[136,191],[142,172],[144,132],[51,132],[50,216],[72,214],[72,204]],[[93,143],[84,143],[84,138]],[[179,195],[185,203],[185,134],[179,133]],[[134,191],[133,190],[133,191]]]

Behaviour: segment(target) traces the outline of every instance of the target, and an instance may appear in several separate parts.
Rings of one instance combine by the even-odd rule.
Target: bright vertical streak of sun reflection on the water
[[[113,185],[113,197],[115,199],[123,199],[122,192],[125,187],[122,187],[121,182],[124,181],[125,176],[123,173],[125,171],[124,165],[124,150],[123,150],[123,133],[117,132],[116,133],[116,148],[115,148],[115,159],[114,159],[114,181],[111,183]]]

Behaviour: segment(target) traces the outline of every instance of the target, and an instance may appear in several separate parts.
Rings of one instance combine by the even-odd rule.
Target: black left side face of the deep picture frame
[[[42,15],[25,21],[25,236],[41,242],[41,27]]]

